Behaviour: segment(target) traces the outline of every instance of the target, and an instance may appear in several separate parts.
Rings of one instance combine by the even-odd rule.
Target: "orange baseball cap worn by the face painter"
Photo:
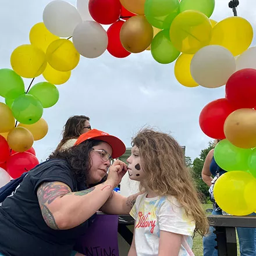
[[[126,147],[123,141],[118,137],[105,133],[104,131],[99,131],[97,129],[87,131],[87,133],[83,133],[79,136],[79,138],[77,138],[77,141],[74,143],[74,145],[79,145],[86,140],[102,140],[111,145],[113,151],[112,158],[118,158],[125,154]]]

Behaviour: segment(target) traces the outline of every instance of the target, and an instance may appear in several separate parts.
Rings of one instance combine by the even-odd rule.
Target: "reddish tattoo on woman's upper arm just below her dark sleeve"
[[[69,187],[57,182],[47,182],[39,187],[37,197],[40,204],[51,204],[56,198],[63,197],[67,193],[70,193]]]

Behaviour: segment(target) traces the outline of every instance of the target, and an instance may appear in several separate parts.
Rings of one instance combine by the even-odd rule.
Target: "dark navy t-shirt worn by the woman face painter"
[[[69,230],[54,230],[42,218],[37,189],[42,182],[63,182],[72,191],[86,189],[76,182],[67,162],[52,159],[24,177],[15,193],[0,204],[0,252],[6,256],[70,256],[88,221]]]

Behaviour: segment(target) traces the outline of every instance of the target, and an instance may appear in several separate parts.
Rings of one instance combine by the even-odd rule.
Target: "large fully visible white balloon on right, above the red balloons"
[[[220,45],[201,48],[193,57],[190,72],[200,86],[216,88],[226,84],[236,70],[232,53]]]

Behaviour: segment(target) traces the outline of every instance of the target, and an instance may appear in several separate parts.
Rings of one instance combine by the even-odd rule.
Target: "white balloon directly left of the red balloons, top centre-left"
[[[108,47],[106,31],[99,23],[92,21],[78,24],[72,40],[79,54],[86,58],[97,58]]]

